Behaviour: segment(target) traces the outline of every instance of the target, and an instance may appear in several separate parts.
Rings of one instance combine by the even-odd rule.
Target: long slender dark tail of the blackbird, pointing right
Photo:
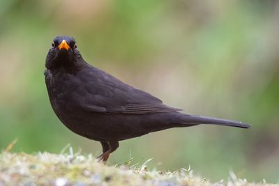
[[[188,125],[198,125],[198,124],[213,124],[213,125],[225,125],[225,126],[232,126],[232,127],[241,127],[241,128],[249,128],[250,125],[246,123],[241,123],[237,121],[230,121],[225,119],[219,118],[209,118],[204,116],[195,116],[195,115],[188,115],[183,114],[182,121],[178,124],[188,124]]]

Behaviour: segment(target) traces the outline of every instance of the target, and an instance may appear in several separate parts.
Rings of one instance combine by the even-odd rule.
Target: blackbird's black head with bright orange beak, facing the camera
[[[56,36],[47,54],[45,67],[53,68],[75,68],[84,63],[80,52],[77,50],[75,38],[69,36]]]

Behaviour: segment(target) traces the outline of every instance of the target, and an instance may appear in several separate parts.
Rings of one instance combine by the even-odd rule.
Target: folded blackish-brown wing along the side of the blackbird
[[[124,84],[101,70],[83,72],[84,81],[77,92],[79,106],[86,111],[107,114],[151,114],[181,111],[169,107],[153,95]],[[77,98],[76,97],[76,98]]]

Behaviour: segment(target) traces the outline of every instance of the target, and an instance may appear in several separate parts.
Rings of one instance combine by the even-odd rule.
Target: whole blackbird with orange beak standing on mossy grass
[[[100,141],[107,162],[119,141],[174,127],[201,124],[249,128],[237,121],[183,113],[134,88],[82,58],[75,38],[56,36],[45,60],[50,104],[61,123],[82,137]]]

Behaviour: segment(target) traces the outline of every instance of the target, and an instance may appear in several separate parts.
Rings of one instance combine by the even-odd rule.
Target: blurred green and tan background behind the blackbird
[[[86,61],[166,104],[250,123],[198,126],[121,141],[111,164],[176,170],[210,180],[279,178],[279,1],[0,1],[0,148],[59,153],[67,144],[101,153],[56,118],[45,56],[57,35],[74,36]]]

